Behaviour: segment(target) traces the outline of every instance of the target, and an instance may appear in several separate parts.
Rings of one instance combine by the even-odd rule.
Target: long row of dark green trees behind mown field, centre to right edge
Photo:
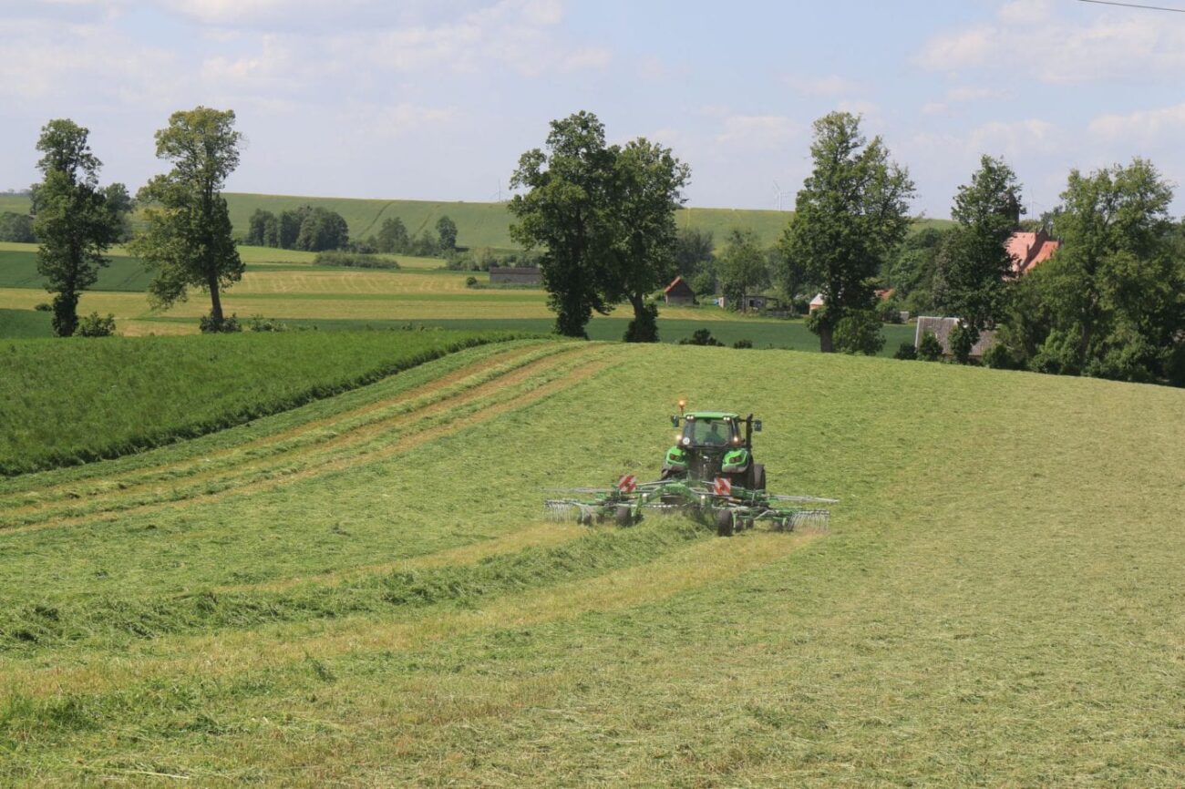
[[[594,312],[628,302],[626,339],[656,340],[645,295],[678,272],[700,295],[821,291],[826,306],[808,322],[820,348],[875,353],[876,290],[891,287],[889,308],[960,319],[956,358],[994,329],[997,366],[1185,385],[1185,222],[1170,216],[1172,188],[1151,162],[1072,171],[1062,204],[1027,223],[1056,235],[1059,251],[1018,278],[1006,242],[1026,223],[1003,160],[984,156],[959,188],[953,227],[910,233],[915,185],[858,117],[819,118],[811,156],[779,244],[762,249],[737,230],[717,252],[710,233],[675,231],[687,166],[646,140],[607,146],[596,116],[578,113],[520,158],[512,236],[540,250],[556,329],[572,336]]]

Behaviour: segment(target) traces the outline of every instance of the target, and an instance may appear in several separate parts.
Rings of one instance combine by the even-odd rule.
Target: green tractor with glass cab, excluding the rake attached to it
[[[751,413],[742,418],[726,411],[685,413],[685,405],[680,402],[680,413],[671,417],[671,423],[683,429],[664,458],[662,479],[710,482],[726,476],[736,486],[763,490],[764,468],[752,461],[752,434],[761,432],[761,421]]]

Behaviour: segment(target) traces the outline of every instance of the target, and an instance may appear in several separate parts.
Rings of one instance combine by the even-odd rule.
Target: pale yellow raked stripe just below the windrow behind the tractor
[[[0,662],[7,682],[0,705],[14,697],[92,694],[164,678],[203,682],[256,671],[290,671],[310,655],[365,659],[369,654],[412,650],[454,637],[502,628],[521,628],[585,614],[622,610],[661,601],[691,589],[736,578],[777,562],[815,539],[809,534],[749,532],[729,540],[696,539],[653,559],[591,577],[492,596],[463,610],[429,607],[410,617],[359,615],[264,624],[203,635],[165,635],[132,643],[118,657],[100,650],[81,653],[69,665]],[[178,659],[175,655],[187,655]],[[162,656],[164,655],[164,656]],[[139,695],[134,692],[132,697]]]

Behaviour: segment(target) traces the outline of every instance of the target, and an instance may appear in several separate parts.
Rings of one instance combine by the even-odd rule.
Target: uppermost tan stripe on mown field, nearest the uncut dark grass
[[[402,380],[374,384],[369,387],[373,390],[370,392],[373,397],[360,405],[342,402],[338,403],[338,409],[333,412],[318,416],[326,409],[315,408],[320,404],[314,404],[289,412],[283,419],[270,417],[261,421],[264,424],[256,430],[237,432],[230,437],[229,443],[217,449],[197,454],[172,451],[173,448],[156,450],[155,463],[136,464],[122,470],[113,464],[108,473],[103,473],[102,464],[92,464],[90,468],[94,474],[88,477],[0,493],[0,513],[23,514],[57,501],[77,502],[113,493],[128,493],[154,482],[185,479],[194,473],[210,474],[246,460],[290,451],[383,418],[424,408],[530,363],[572,349],[574,346],[570,345],[530,342],[521,347],[497,349],[492,354],[475,354],[479,361],[451,370],[438,378],[429,378],[409,389],[399,386]],[[395,385],[386,386],[387,383]],[[385,393],[384,390],[392,391]],[[177,458],[177,455],[181,457]]]

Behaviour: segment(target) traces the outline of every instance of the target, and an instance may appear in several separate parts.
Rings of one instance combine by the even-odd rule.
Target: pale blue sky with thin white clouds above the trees
[[[1162,0],[1154,5],[1178,5]],[[0,190],[41,126],[91,132],[102,180],[166,169],[179,109],[233,109],[228,190],[506,199],[549,121],[595,113],[691,166],[692,206],[793,209],[812,122],[863,116],[948,217],[982,154],[1031,216],[1071,168],[1151,159],[1185,213],[1185,13],[1081,0],[2,0]]]

